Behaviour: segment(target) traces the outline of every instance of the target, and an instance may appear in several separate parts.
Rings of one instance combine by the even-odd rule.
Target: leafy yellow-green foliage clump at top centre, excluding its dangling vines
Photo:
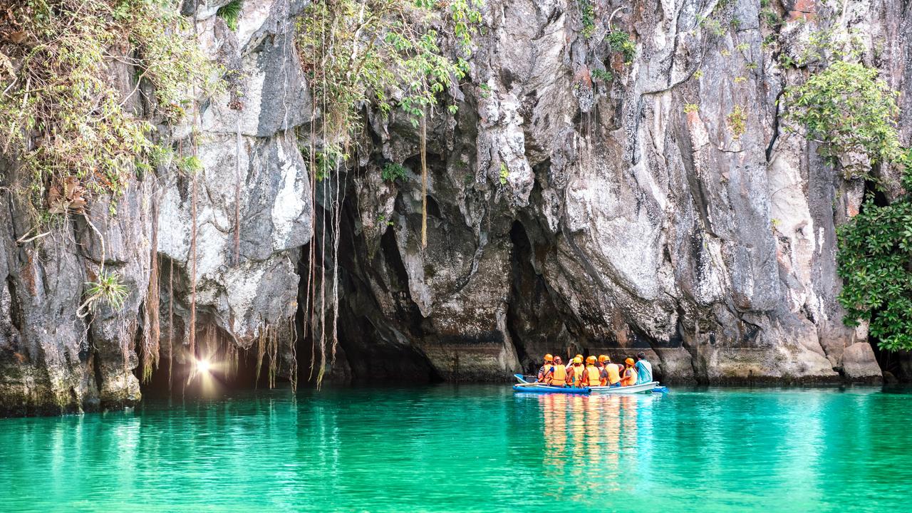
[[[415,127],[437,96],[462,79],[481,21],[481,0],[439,9],[430,0],[312,2],[298,18],[297,47],[315,98],[325,102],[323,122],[344,144],[361,129],[366,103],[387,114],[409,114]],[[439,41],[451,30],[460,56],[443,55]]]

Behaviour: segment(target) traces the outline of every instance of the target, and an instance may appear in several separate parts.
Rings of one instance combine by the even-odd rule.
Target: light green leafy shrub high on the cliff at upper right
[[[872,163],[898,160],[898,93],[877,78],[877,70],[837,61],[800,86],[785,90],[785,120],[802,125],[822,143],[831,162],[842,152],[864,153]]]

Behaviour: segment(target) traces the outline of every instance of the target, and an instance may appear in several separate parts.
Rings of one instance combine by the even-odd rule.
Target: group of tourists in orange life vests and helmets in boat
[[[615,363],[602,354],[589,356],[583,365],[583,355],[577,354],[567,364],[560,356],[544,355],[544,365],[538,370],[538,382],[552,386],[631,386],[652,382],[652,364],[646,353],[637,353],[637,361],[627,358]]]

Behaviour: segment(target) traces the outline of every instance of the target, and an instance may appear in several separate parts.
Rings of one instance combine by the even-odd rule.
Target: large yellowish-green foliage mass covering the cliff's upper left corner
[[[120,194],[130,175],[150,169],[152,126],[127,107],[110,67],[135,70],[154,88],[157,108],[177,120],[212,65],[171,2],[153,0],[0,0],[8,26],[23,37],[5,45],[17,68],[0,72],[0,148],[27,183],[43,218],[47,195],[76,179],[92,194]],[[139,89],[139,84],[136,84]]]

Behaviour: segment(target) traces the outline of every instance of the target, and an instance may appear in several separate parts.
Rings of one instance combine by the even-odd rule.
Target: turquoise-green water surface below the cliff
[[[907,511],[910,420],[876,388],[149,403],[0,420],[0,510]]]

